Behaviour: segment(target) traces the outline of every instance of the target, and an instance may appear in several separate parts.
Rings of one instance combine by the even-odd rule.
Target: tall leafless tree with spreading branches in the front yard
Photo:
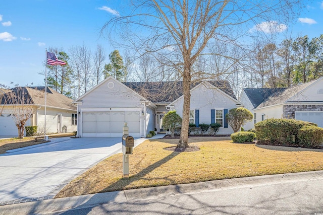
[[[123,44],[127,41],[128,47],[135,46],[137,50],[163,56],[168,59],[167,64],[177,70],[183,81],[184,95],[182,130],[177,147],[188,148],[190,85],[196,81],[194,63],[200,55],[207,54],[206,45],[213,40],[239,45],[243,35],[251,34],[244,28],[263,21],[278,22],[281,18],[290,18],[300,4],[298,0],[137,0],[129,16],[114,17],[103,29],[118,35],[118,39],[124,35]],[[136,25],[136,28],[129,25]],[[136,32],[131,32],[131,29]],[[259,29],[259,25],[256,29]],[[145,34],[138,34],[140,30]]]

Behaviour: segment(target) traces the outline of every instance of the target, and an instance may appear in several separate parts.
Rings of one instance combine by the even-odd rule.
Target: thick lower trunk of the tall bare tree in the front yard
[[[183,96],[184,96],[183,120],[182,120],[181,136],[176,148],[189,148],[188,124],[190,121],[190,100],[191,100],[190,84],[191,84],[190,66],[185,66],[184,74],[183,74]]]

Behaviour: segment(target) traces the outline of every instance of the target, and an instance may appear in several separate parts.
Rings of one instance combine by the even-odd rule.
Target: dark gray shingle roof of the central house
[[[229,82],[209,81],[209,83],[236,99]],[[183,95],[183,82],[126,82],[123,84],[153,103],[170,103]],[[190,89],[198,84],[191,84]]]

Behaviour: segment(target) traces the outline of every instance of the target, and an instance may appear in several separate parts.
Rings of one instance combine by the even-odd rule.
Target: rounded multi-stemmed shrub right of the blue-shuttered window
[[[238,132],[241,125],[246,124],[253,119],[253,114],[246,108],[232,108],[226,114],[228,124],[232,127],[234,132]]]

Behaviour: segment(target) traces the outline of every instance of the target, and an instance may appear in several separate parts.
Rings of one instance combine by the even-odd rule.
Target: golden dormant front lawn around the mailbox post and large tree
[[[210,137],[189,138],[197,152],[171,152],[178,139],[146,140],[129,156],[130,178],[122,178],[122,154],[100,162],[56,196],[209,180],[323,170],[323,150],[236,144]]]

